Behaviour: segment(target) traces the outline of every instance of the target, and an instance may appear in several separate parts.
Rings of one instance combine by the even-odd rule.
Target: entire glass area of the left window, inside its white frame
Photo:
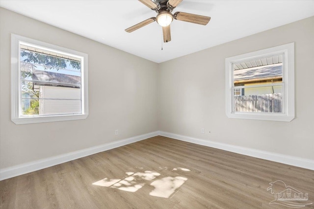
[[[25,45],[20,56],[23,116],[82,113],[80,59]]]

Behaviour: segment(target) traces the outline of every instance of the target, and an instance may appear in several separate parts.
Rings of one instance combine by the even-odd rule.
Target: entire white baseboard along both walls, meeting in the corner
[[[67,154],[63,155],[58,155],[54,156],[51,158],[46,158],[38,161],[33,161],[29,163],[24,163],[4,169],[0,169],[0,181],[4,179],[9,179],[15,176],[19,176],[22,174],[30,173],[36,170],[40,170],[43,168],[47,168],[53,165],[61,164],[61,163],[66,163],[69,161],[76,160],[78,158],[82,158],[88,155],[93,155],[99,152],[103,152],[109,149],[113,149],[116,147],[124,146],[136,141],[144,140],[144,139],[149,139],[151,137],[155,136],[163,136],[163,137],[169,137],[172,139],[178,139],[190,143],[195,143],[203,146],[209,146],[217,149],[222,149],[230,152],[235,152],[241,155],[247,155],[255,158],[260,158],[264,160],[269,160],[269,161],[274,161],[277,163],[284,163],[288,165],[293,165],[297,167],[302,167],[302,168],[307,168],[310,170],[314,170],[314,161],[310,159],[304,159],[304,158],[297,158],[289,155],[282,155],[278,153],[272,153],[272,152],[266,152],[262,150],[257,150],[257,149],[251,149],[251,148],[246,148],[246,147],[241,147],[241,146],[235,146],[235,145],[230,145],[230,144],[224,144],[224,143],[219,143],[219,142],[214,142],[214,141],[208,141],[204,139],[196,139],[192,137],[186,137],[178,134],[173,134],[173,133],[168,133],[168,132],[163,132],[163,131],[156,131],[156,132],[151,132],[148,134],[143,134],[135,137],[131,137],[128,139],[122,139],[118,141],[113,141],[110,143],[102,144],[99,146],[94,146],[90,147],[87,149],[82,149],[78,150],[75,152],[70,152]]]

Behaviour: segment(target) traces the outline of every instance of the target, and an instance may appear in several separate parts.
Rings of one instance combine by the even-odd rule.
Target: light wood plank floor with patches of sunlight
[[[312,170],[158,136],[3,180],[0,208],[287,209],[277,180],[314,203]]]

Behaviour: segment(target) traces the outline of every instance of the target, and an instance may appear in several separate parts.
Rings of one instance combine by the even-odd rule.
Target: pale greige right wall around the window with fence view
[[[296,117],[291,122],[228,118],[225,58],[291,42],[295,43]],[[313,89],[311,17],[161,63],[158,127],[164,132],[314,160]]]

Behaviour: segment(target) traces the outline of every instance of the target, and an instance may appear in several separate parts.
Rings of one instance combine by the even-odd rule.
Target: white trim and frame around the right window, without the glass
[[[233,63],[245,62],[262,56],[284,53],[283,56],[283,113],[254,113],[233,111]],[[252,86],[253,87],[253,86]],[[275,46],[226,58],[226,115],[230,118],[291,121],[294,118],[294,43]]]

